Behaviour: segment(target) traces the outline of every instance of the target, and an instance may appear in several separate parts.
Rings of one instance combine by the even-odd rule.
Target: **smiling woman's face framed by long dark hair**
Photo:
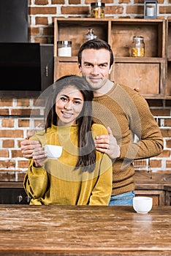
[[[56,114],[58,125],[70,126],[76,124],[77,117],[83,109],[83,94],[75,86],[66,86],[56,97]]]

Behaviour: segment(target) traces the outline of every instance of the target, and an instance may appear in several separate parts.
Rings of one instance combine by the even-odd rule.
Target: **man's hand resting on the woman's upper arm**
[[[96,150],[102,153],[106,153],[110,159],[115,159],[120,157],[120,147],[118,146],[110,127],[107,127],[107,131],[109,132],[109,135],[96,136]]]

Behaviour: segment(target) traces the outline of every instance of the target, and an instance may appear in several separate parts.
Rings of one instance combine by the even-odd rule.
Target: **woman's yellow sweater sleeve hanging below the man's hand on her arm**
[[[91,197],[89,200],[89,206],[107,206],[110,202],[110,196],[112,193],[112,181],[113,181],[113,170],[112,162],[107,154],[103,154],[99,177],[97,178],[96,184]]]

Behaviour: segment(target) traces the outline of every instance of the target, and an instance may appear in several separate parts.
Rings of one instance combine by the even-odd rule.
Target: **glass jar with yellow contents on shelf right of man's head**
[[[144,37],[133,37],[132,41],[132,57],[144,57],[145,43]]]

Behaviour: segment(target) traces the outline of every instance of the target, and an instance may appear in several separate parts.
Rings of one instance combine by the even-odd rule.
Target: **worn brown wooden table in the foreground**
[[[0,255],[171,255],[171,206],[0,205]]]

